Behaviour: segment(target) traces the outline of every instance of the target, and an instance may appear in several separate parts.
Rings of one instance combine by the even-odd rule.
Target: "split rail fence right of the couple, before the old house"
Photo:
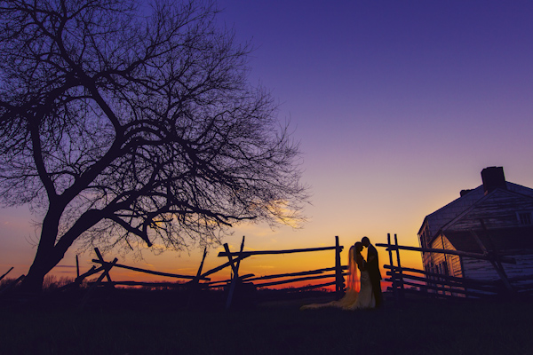
[[[513,283],[517,281],[530,280],[531,276],[516,278],[506,277],[502,263],[515,264],[516,261],[511,257],[495,256],[488,253],[487,250],[484,250],[484,253],[480,254],[460,250],[401,246],[398,245],[396,234],[394,234],[394,243],[391,242],[391,235],[387,234],[387,243],[376,244],[376,246],[386,248],[386,251],[388,252],[389,264],[384,265],[384,268],[387,270],[386,275],[388,278],[386,278],[385,281],[391,283],[391,286],[387,288],[387,290],[392,291],[394,298],[398,300],[403,300],[406,294],[437,298],[483,298],[494,296],[516,296],[518,294],[531,295],[533,293],[533,287],[531,286],[529,286],[529,288],[517,288],[516,286],[513,286]],[[500,280],[473,280],[402,267],[400,250],[441,253],[487,260],[496,269]]]

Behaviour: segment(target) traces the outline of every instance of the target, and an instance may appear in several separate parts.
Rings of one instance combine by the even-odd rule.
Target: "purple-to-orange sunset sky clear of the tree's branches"
[[[386,233],[418,246],[424,217],[481,185],[483,168],[503,166],[508,181],[533,187],[533,2],[219,0],[219,7],[220,23],[255,46],[250,81],[271,90],[280,120],[290,120],[313,194],[302,229],[242,225],[227,239],[232,250],[243,235],[246,249],[330,246],[335,235],[347,249],[364,235],[386,242]],[[16,266],[15,277],[35,254],[34,228],[27,209],[0,214],[0,274]],[[74,275],[75,251],[54,271]],[[205,268],[221,264],[218,251]],[[116,256],[189,274],[201,259],[199,251],[144,254]],[[241,268],[260,275],[333,265],[333,253],[314,254],[257,256]],[[421,266],[416,252],[402,259]]]

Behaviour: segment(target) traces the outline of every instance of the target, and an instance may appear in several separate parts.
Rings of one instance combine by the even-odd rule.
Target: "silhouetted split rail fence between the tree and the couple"
[[[109,262],[104,260],[103,256],[99,252],[98,248],[95,248],[97,258],[92,259],[92,262],[99,264],[99,266],[92,266],[88,272],[80,274],[79,272],[79,263],[76,256],[76,280],[64,288],[70,288],[73,286],[81,285],[85,279],[101,272],[99,277],[95,281],[89,283],[90,287],[88,288],[84,299],[82,301],[82,307],[86,304],[87,300],[91,297],[91,294],[95,288],[100,286],[113,288],[116,285],[120,286],[147,286],[147,287],[166,287],[166,288],[187,288],[191,292],[191,298],[195,292],[200,289],[219,289],[223,288],[227,290],[227,302],[226,307],[229,308],[232,304],[232,299],[235,295],[238,284],[243,283],[252,283],[255,288],[268,288],[277,285],[290,284],[295,282],[302,282],[307,280],[323,280],[324,282],[314,285],[306,285],[299,288],[290,288],[292,291],[303,291],[307,289],[314,288],[325,288],[332,285],[335,285],[336,296],[340,298],[344,295],[345,291],[345,276],[347,266],[342,265],[340,261],[340,252],[343,250],[343,246],[340,246],[338,243],[338,237],[335,237],[335,245],[331,247],[322,247],[322,248],[299,248],[299,249],[286,249],[286,250],[257,250],[257,251],[244,251],[244,237],[241,243],[241,248],[237,252],[232,252],[229,250],[227,244],[224,244],[225,251],[219,253],[219,257],[227,257],[227,262],[220,264],[219,266],[203,272],[203,263],[205,256],[207,255],[207,250],[203,250],[203,258],[198,271],[195,275],[181,275],[169,272],[156,272],[147,269],[141,269],[138,267],[128,266],[124,264],[118,264],[118,259],[115,257],[113,261]],[[262,255],[279,255],[279,254],[294,254],[294,253],[306,253],[306,252],[318,252],[324,250],[334,250],[335,251],[335,264],[332,267],[304,271],[304,272],[290,272],[282,274],[274,274],[267,276],[255,276],[254,274],[245,274],[239,275],[239,269],[241,262],[250,257],[250,256],[262,256]],[[227,267],[231,268],[231,277],[227,280],[212,280],[210,276],[219,272]],[[179,280],[185,280],[185,282],[137,282],[137,281],[114,281],[111,279],[109,274],[112,268],[121,268],[126,270],[131,270],[135,272],[144,272],[157,276],[164,276]],[[330,279],[330,280],[328,280]],[[332,279],[332,280],[331,280]]]

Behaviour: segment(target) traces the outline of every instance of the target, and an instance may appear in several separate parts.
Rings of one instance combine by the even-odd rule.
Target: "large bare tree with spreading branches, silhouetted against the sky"
[[[181,249],[301,217],[298,145],[215,4],[0,4],[0,196],[44,216],[24,288],[75,241]]]

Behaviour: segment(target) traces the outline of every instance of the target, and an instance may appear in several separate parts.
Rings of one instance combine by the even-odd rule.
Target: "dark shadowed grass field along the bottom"
[[[224,311],[209,300],[186,310],[118,296],[82,310],[61,300],[3,304],[0,354],[533,354],[530,301],[300,312],[309,300]]]

